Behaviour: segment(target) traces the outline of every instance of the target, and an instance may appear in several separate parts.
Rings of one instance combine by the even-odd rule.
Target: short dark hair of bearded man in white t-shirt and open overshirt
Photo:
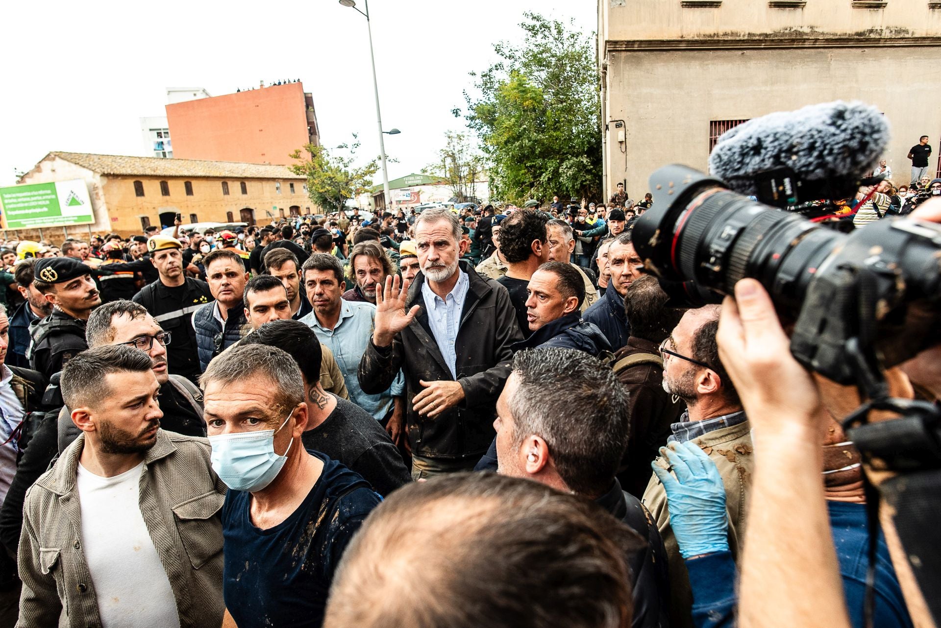
[[[151,356],[122,344],[104,345],[79,353],[62,369],[62,400],[72,408],[106,400],[111,391],[104,376],[119,372],[151,372]]]

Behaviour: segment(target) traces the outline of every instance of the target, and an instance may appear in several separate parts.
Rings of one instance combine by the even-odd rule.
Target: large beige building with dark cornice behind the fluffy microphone
[[[941,2],[598,0],[606,196],[650,173],[705,170],[726,130],[815,102],[858,99],[892,128],[885,159],[908,182],[908,149],[941,155]]]

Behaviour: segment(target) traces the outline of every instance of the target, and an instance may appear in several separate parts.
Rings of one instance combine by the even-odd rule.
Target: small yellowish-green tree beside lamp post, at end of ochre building
[[[295,175],[307,178],[307,193],[311,202],[325,210],[340,212],[346,206],[346,201],[356,198],[364,192],[369,192],[373,186],[373,177],[379,169],[377,159],[365,165],[355,166],[356,150],[359,149],[359,140],[353,135],[353,144],[342,144],[340,149],[349,149],[349,156],[330,154],[322,146],[307,144],[303,150],[307,155],[297,149],[291,153],[296,164],[289,165]]]

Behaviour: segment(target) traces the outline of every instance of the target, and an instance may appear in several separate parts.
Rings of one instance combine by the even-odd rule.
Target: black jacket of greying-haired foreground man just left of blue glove
[[[628,557],[633,574],[631,597],[634,601],[631,628],[668,626],[670,616],[670,578],[666,568],[666,550],[651,514],[637,497],[621,490],[615,479],[611,490],[595,500],[614,518],[624,522],[646,542],[642,551]]]

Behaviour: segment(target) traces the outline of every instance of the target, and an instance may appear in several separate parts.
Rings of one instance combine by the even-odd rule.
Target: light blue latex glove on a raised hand
[[[670,526],[684,558],[728,550],[726,487],[719,469],[692,441],[661,447],[661,455],[676,478],[656,462],[651,463],[666,491]]]

